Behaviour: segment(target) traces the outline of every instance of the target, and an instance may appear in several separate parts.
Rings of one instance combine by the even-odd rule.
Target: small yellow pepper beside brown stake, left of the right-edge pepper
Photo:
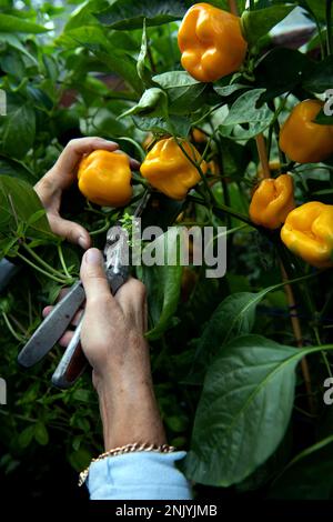
[[[281,174],[264,179],[254,191],[250,204],[250,218],[266,229],[279,229],[289,212],[295,208],[293,179]]]

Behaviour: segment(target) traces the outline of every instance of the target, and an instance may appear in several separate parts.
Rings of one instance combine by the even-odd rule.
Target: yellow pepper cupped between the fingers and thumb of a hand
[[[79,189],[102,207],[124,207],[132,198],[130,160],[127,154],[94,150],[78,170]]]

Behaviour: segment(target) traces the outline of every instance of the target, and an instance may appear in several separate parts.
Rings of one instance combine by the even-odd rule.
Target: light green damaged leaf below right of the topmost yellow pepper
[[[261,108],[256,107],[259,99],[264,92],[265,89],[253,89],[252,91],[244,92],[236,99],[222,126],[219,128],[222,135],[231,137],[234,126],[249,123],[249,129],[239,129],[234,133],[236,139],[248,140],[270,126],[273,112],[266,104],[263,104]]]

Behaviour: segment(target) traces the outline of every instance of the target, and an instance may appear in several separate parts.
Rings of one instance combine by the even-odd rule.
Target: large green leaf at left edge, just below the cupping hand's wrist
[[[39,219],[27,224],[36,212],[40,212]],[[8,237],[10,232],[17,230],[20,223],[27,225],[28,238],[58,242],[32,187],[17,178],[0,175],[0,235],[2,233]]]

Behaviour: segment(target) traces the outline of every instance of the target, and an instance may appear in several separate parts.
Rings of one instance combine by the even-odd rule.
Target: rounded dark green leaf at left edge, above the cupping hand
[[[23,158],[31,149],[36,133],[36,117],[30,104],[14,104],[3,119],[2,148],[6,154]]]

